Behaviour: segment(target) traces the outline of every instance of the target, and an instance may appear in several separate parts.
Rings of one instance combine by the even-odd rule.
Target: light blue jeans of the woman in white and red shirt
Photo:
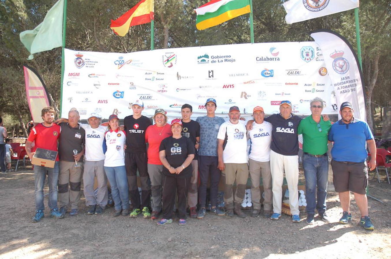
[[[104,167],[107,179],[111,186],[114,208],[116,210],[129,209],[129,190],[127,187],[127,177],[125,166]]]

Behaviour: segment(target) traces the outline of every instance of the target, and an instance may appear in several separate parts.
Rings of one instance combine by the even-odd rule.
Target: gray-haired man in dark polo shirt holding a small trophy
[[[72,108],[68,112],[68,122],[61,122],[61,135],[59,141],[60,172],[58,176],[58,197],[60,212],[65,215],[70,203],[70,216],[79,213],[79,200],[81,190],[81,163],[84,155],[86,132],[78,123],[79,112]],[[77,151],[77,152],[76,152]],[[77,163],[77,166],[76,166]],[[68,190],[68,184],[70,190]]]

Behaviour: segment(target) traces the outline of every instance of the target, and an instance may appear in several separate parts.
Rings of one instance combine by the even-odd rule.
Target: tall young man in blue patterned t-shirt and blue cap
[[[209,98],[205,102],[206,116],[197,118],[200,125],[200,142],[198,147],[198,169],[201,184],[198,189],[200,208],[197,214],[198,219],[204,218],[206,213],[206,184],[209,175],[210,183],[210,202],[212,213],[224,216],[224,212],[217,208],[217,190],[220,182],[221,171],[217,168],[219,165],[217,157],[217,133],[224,119],[215,116],[217,108],[216,100]]]

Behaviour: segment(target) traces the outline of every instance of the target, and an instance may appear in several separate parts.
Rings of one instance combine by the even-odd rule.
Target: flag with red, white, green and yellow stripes
[[[250,12],[249,0],[212,0],[194,10],[198,30],[219,25],[224,21]]]

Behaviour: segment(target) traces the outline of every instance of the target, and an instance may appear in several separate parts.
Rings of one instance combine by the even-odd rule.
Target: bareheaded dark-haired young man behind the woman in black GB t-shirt
[[[188,192],[188,204],[190,207],[190,218],[197,218],[197,203],[198,203],[198,145],[199,145],[199,124],[190,119],[193,114],[193,107],[189,104],[182,105],[182,136],[190,138],[195,147],[195,156],[192,161],[192,178],[190,179],[190,186]]]

